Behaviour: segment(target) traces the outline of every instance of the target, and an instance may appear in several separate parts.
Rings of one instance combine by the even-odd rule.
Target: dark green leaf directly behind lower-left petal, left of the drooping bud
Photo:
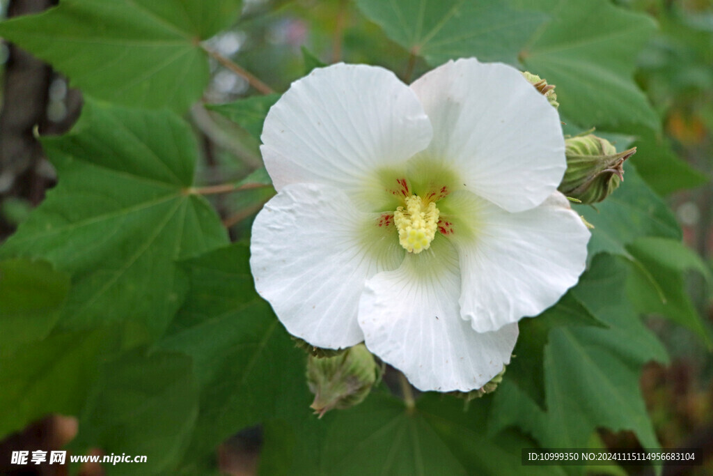
[[[201,403],[187,457],[264,418],[309,410],[304,353],[255,293],[249,256],[234,244],[183,263],[192,285],[179,320],[190,327],[158,344],[195,362]]]

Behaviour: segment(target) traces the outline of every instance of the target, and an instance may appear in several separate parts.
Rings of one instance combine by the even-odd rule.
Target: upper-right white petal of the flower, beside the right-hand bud
[[[434,128],[421,160],[442,161],[457,187],[508,211],[542,203],[567,167],[560,117],[519,71],[449,61],[411,85]]]

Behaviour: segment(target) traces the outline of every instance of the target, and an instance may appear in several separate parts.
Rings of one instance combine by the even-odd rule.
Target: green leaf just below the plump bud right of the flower
[[[596,208],[575,206],[594,225],[589,241],[589,259],[597,253],[629,256],[626,245],[645,236],[680,240],[681,231],[666,203],[625,164],[624,182]]]

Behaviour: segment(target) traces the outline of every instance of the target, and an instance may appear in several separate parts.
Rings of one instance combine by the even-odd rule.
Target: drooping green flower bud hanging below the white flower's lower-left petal
[[[357,344],[340,355],[307,360],[307,385],[314,393],[309,405],[322,418],[333,408],[349,408],[369,395],[379,375],[374,355],[364,344]]]

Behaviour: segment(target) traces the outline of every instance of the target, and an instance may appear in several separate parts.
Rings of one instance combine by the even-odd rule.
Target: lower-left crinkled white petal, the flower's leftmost
[[[361,342],[356,323],[364,283],[399,266],[404,250],[394,226],[357,211],[337,188],[282,188],[252,226],[255,288],[292,335],[322,348]]]

